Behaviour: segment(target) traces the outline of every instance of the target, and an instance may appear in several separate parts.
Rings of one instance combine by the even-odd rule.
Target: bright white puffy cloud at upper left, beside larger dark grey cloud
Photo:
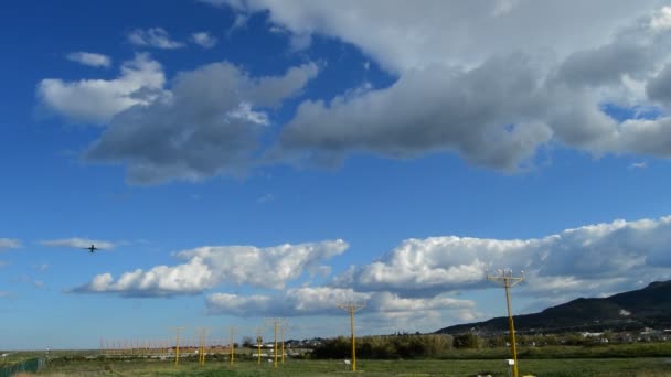
[[[71,121],[105,123],[135,105],[150,104],[166,83],[161,65],[148,54],[137,54],[120,71],[119,77],[110,80],[45,78],[38,84],[38,98]]]

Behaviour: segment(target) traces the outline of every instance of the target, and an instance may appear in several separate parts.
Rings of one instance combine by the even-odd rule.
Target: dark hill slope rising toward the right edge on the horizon
[[[576,299],[540,313],[515,315],[519,332],[622,331],[671,327],[671,280],[604,299]],[[437,334],[508,331],[508,317],[438,330]]]

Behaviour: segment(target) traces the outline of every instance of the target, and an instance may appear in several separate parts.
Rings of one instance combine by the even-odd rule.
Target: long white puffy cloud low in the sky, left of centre
[[[102,273],[73,292],[118,293],[127,297],[196,294],[220,283],[281,289],[308,269],[342,254],[343,240],[254,246],[206,246],[177,254],[178,266],[157,266],[123,273],[116,281]]]

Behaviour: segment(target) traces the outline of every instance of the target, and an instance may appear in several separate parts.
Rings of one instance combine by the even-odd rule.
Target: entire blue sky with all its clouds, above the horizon
[[[435,331],[504,313],[487,268],[526,271],[518,313],[671,278],[664,1],[0,7],[0,348],[333,336],[345,300]]]

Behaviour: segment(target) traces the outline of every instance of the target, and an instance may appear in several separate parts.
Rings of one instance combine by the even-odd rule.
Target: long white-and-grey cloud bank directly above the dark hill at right
[[[583,226],[532,239],[407,239],[379,261],[353,267],[334,287],[426,297],[481,288],[488,268],[525,270],[530,292],[631,289],[641,276],[671,277],[671,216]]]

